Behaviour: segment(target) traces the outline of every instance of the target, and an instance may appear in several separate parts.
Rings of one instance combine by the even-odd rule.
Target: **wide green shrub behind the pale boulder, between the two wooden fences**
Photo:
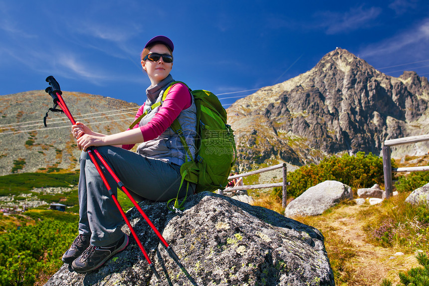
[[[395,162],[392,160],[392,166]],[[326,157],[320,164],[303,166],[287,174],[289,197],[298,197],[308,188],[326,180],[335,180],[352,188],[370,188],[383,184],[383,158],[358,152],[355,156]]]

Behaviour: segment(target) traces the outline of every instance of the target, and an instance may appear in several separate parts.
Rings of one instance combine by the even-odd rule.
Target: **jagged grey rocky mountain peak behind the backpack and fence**
[[[309,71],[261,88],[227,112],[238,133],[239,163],[248,169],[270,159],[301,165],[342,152],[379,155],[386,139],[428,133],[428,101],[426,77],[388,76],[336,48]]]

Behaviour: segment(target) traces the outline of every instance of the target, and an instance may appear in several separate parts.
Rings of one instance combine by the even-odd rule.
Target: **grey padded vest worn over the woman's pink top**
[[[160,83],[154,87],[149,87],[146,90],[148,99],[145,103],[145,111],[149,110],[153,104],[160,102],[164,91],[168,88],[170,83],[174,81],[171,75],[167,76]],[[191,94],[192,104],[189,108],[182,110],[177,117],[180,125],[182,126],[183,134],[188,144],[189,150],[192,154],[192,160],[195,159],[196,148],[194,138],[197,135],[197,108],[195,106],[194,97]],[[150,113],[146,114],[139,123],[139,126],[147,124],[159,111],[158,106]],[[166,162],[171,162],[176,165],[185,163],[185,147],[180,141],[179,135],[174,132],[171,127],[168,127],[158,138],[154,140],[143,142],[137,148],[137,153],[147,157],[157,158]],[[188,156],[188,160],[190,157]]]

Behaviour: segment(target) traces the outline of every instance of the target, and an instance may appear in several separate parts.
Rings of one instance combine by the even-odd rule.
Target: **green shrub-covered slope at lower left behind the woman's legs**
[[[46,203],[15,214],[0,212],[0,285],[43,285],[62,266],[61,257],[78,234],[78,178],[78,173],[0,176],[0,206]],[[125,212],[133,207],[121,191],[118,201]],[[64,204],[66,211],[49,210],[50,203]]]

